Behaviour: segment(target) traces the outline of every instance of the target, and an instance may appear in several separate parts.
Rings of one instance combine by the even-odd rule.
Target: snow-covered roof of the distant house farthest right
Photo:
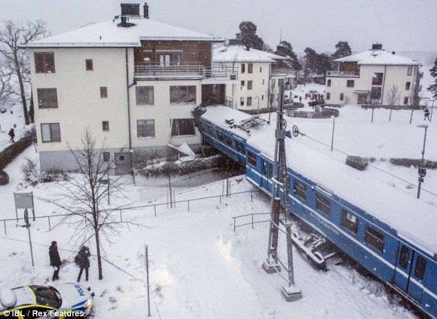
[[[382,64],[385,66],[418,66],[421,65],[418,61],[402,57],[385,50],[368,50],[357,53],[356,55],[349,55],[348,57],[341,57],[335,59],[334,62],[358,62],[360,65],[374,65]]]

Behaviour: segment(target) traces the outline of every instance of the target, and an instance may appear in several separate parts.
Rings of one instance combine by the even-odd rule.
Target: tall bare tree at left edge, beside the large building
[[[45,26],[46,23],[41,20],[27,23],[3,20],[3,28],[0,30],[0,53],[8,65],[10,75],[17,77],[19,92],[14,93],[21,97],[26,125],[30,124],[25,88],[30,78],[30,67],[27,52],[20,46],[48,35]]]

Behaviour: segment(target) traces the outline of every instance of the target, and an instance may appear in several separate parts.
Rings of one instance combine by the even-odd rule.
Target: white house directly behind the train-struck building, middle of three
[[[296,77],[291,70],[274,68],[281,59],[285,57],[246,48],[238,40],[228,40],[225,46],[214,48],[212,61],[216,68],[238,70],[238,84],[226,85],[227,106],[240,110],[272,106],[272,101],[277,99],[279,83],[285,84],[286,77]]]

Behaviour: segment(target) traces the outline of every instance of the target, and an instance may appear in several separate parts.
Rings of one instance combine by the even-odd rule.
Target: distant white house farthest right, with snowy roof
[[[326,77],[326,104],[414,104],[420,90],[418,61],[383,50],[372,50],[334,60],[337,70]]]

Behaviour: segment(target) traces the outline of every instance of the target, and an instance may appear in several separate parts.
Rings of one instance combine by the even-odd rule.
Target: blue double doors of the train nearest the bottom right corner
[[[414,249],[400,244],[394,284],[420,302],[427,261]]]

